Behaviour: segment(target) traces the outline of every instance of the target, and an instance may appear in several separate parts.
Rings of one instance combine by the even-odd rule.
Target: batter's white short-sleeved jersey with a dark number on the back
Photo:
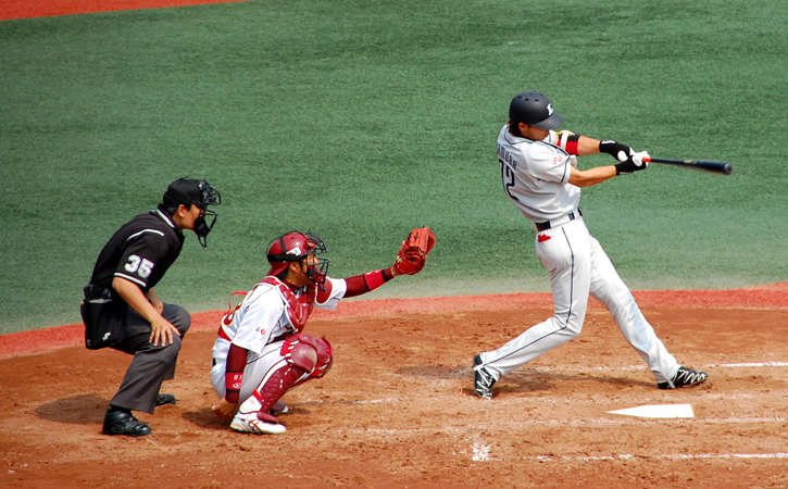
[[[505,125],[498,135],[503,189],[512,203],[534,222],[566,215],[580,202],[580,189],[568,184],[577,159],[548,142],[555,140],[554,133],[550,133],[545,141],[531,141],[513,136]]]

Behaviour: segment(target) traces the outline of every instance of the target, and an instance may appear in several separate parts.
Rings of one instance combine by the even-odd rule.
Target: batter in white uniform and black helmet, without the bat
[[[693,386],[705,372],[676,362],[646,321],[613,264],[586,228],[580,188],[616,175],[646,170],[648,152],[616,141],[600,141],[571,131],[543,93],[524,91],[512,99],[509,122],[498,135],[503,189],[536,229],[536,254],[550,272],[554,315],[530,327],[498,350],[474,358],[474,390],[492,399],[492,386],[505,375],[577,337],[586,317],[588,296],[613,315],[629,344],[646,361],[660,389]],[[615,165],[577,170],[577,156],[604,152]]]

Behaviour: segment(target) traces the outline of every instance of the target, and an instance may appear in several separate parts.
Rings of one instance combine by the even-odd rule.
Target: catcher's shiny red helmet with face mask
[[[307,230],[307,234],[291,230],[274,239],[268,244],[267,259],[268,263],[271,263],[268,275],[278,276],[287,269],[290,262],[300,262],[310,255],[317,258],[317,254],[326,252],[328,252],[328,249],[325,242],[311,229]],[[328,259],[317,258],[317,263],[307,265],[307,276],[316,285],[323,286],[326,281],[326,273],[330,262]],[[304,262],[301,262],[301,266],[303,265]]]

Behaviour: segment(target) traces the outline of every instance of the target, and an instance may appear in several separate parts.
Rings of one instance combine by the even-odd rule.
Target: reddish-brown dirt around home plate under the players
[[[758,290],[779,303],[730,306]],[[334,368],[285,396],[279,436],[233,432],[210,412],[216,313],[198,315],[164,388],[178,403],[140,413],[153,427],[140,439],[100,434],[128,356],[68,341],[9,351],[35,331],[8,335],[0,487],[785,487],[786,291],[727,291],[723,306],[706,304],[722,292],[654,292],[671,306],[639,294],[668,350],[710,373],[701,387],[658,390],[592,304],[578,339],[501,379],[492,401],[472,396],[471,358],[549,316],[548,294],[347,302],[308,325],[334,344]],[[647,404],[690,404],[695,417],[609,413]]]

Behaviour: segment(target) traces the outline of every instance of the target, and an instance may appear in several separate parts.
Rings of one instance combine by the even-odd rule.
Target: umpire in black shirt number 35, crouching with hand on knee
[[[170,184],[157,209],[123,225],[96,261],[80,305],[85,346],[134,355],[104,415],[105,435],[150,435],[150,426],[132,411],[152,414],[157,405],[175,403],[174,396],[159,390],[175,375],[191,318],[184,308],[163,303],[155,285],[180,254],[183,229],[192,230],[205,247],[217,215],[208,206],[220,203],[218,191],[208,181],[179,178]]]

